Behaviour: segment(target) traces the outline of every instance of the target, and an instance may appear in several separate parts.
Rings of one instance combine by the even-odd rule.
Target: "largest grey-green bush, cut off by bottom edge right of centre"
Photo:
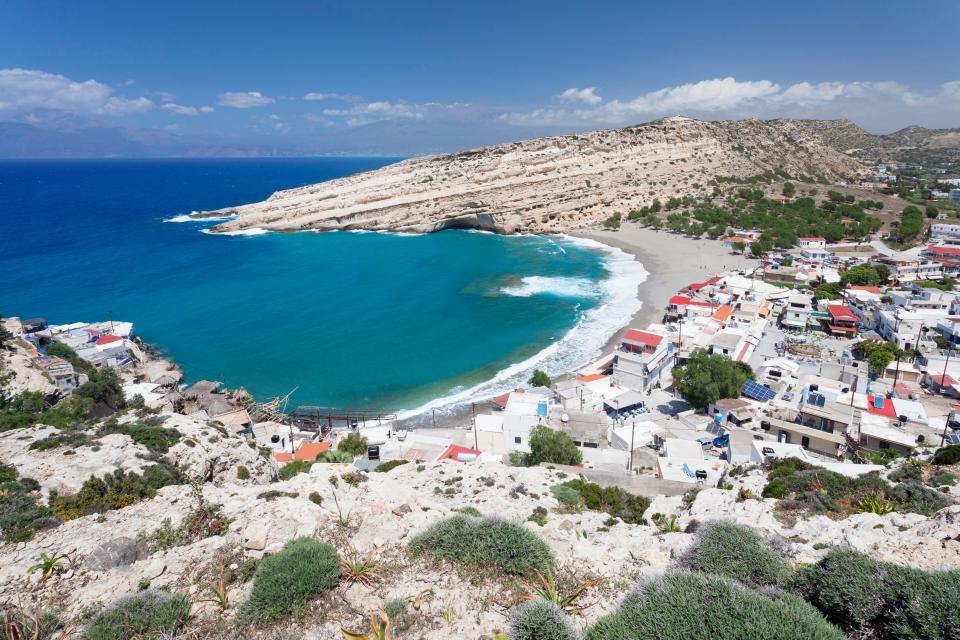
[[[723,576],[675,571],[642,583],[588,640],[846,640],[796,596],[767,598]]]

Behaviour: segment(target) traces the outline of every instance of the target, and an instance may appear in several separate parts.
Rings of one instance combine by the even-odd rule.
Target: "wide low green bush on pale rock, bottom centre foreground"
[[[454,516],[416,536],[410,549],[521,576],[534,569],[546,573],[554,564],[546,542],[521,525],[498,518]]]

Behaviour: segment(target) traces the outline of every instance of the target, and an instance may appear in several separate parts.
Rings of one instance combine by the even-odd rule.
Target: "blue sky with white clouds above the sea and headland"
[[[0,122],[277,153],[674,113],[960,126],[958,25],[949,0],[6,2]]]

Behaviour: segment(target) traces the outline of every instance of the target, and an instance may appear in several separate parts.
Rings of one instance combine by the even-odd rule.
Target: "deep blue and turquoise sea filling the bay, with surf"
[[[128,320],[259,399],[422,411],[582,363],[639,306],[639,263],[562,236],[169,222],[394,160],[0,161],[0,313]]]

